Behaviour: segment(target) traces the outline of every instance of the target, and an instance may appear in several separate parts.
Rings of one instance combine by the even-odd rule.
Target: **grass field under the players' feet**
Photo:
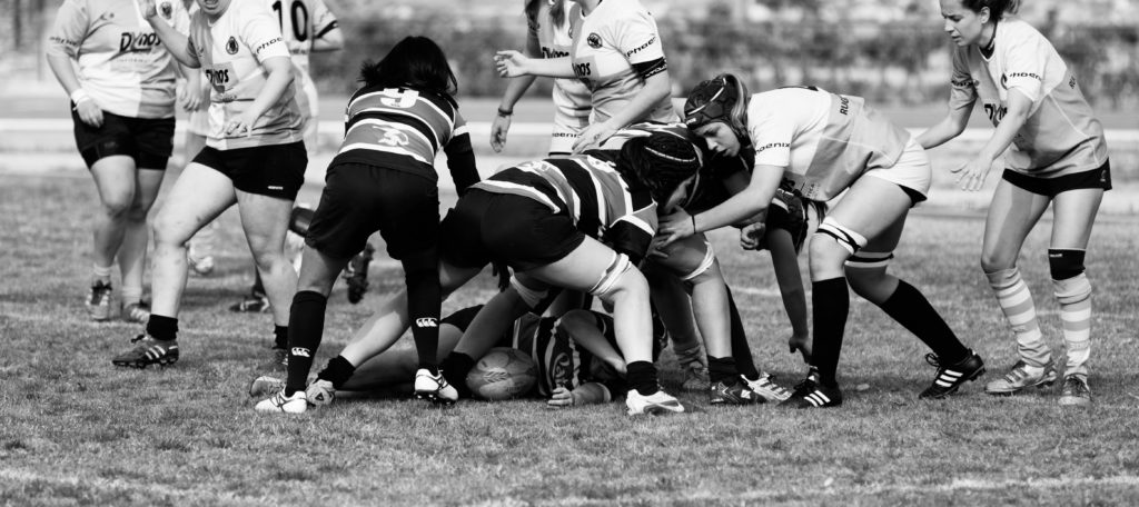
[[[453,197],[452,197],[453,198]],[[302,199],[316,202],[316,189]],[[550,410],[536,400],[338,401],[301,417],[253,411],[246,385],[268,371],[268,314],[224,309],[251,283],[237,216],[223,215],[219,271],[191,278],[182,360],[114,368],[139,326],[93,324],[82,297],[93,186],[84,174],[0,174],[0,505],[1128,505],[1139,502],[1139,224],[1107,216],[1091,240],[1096,403],[1062,409],[1052,391],[995,399],[967,385],[916,399],[932,379],[920,343],[854,299],[841,363],[846,404],[822,411],[713,408],[629,418],[621,403]],[[161,202],[158,205],[161,206]],[[976,268],[982,219],[919,212],[894,272],[923,288],[1000,375],[1010,334]],[[1044,250],[1048,222],[1022,260],[1041,325],[1059,351]],[[764,255],[730,234],[718,252],[761,367],[785,384],[802,366]],[[318,365],[384,293],[402,284],[378,260],[372,291],[333,294]],[[492,294],[476,279],[445,305]],[[410,346],[405,340],[402,346]],[[680,375],[671,352],[665,387]]]

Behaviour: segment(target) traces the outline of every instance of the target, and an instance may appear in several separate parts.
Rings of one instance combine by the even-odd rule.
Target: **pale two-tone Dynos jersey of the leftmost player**
[[[186,33],[182,2],[157,0],[158,17]],[[83,90],[120,116],[174,115],[174,60],[136,0],[65,0],[48,34],[47,54],[79,63]]]

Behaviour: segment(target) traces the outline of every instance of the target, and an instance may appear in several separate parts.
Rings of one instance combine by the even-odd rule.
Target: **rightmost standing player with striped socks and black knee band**
[[[1019,359],[985,392],[1011,394],[1056,381],[1051,351],[1016,265],[1024,239],[1052,204],[1048,265],[1060,304],[1067,365],[1060,404],[1088,404],[1091,283],[1084,255],[1104,191],[1112,188],[1104,128],[1072,71],[1010,0],[942,0],[953,39],[949,115],[918,137],[939,146],[960,134],[980,99],[995,126],[958,182],[978,190],[1001,154],[1005,172],[985,221],[981,268],[1016,335]]]

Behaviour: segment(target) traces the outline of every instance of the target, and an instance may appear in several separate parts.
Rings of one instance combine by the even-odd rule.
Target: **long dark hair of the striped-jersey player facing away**
[[[459,92],[459,82],[446,56],[426,36],[405,36],[379,62],[364,62],[360,67],[360,81],[366,87],[407,87],[443,97]]]

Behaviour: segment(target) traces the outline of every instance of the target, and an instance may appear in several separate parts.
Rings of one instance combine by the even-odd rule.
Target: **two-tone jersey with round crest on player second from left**
[[[285,145],[302,140],[303,116],[296,83],[253,124],[252,134],[227,134],[226,124],[248,108],[265,85],[262,62],[289,57],[276,16],[260,1],[233,1],[216,21],[202,10],[190,17],[190,55],[210,82],[210,133],[216,149]]]

